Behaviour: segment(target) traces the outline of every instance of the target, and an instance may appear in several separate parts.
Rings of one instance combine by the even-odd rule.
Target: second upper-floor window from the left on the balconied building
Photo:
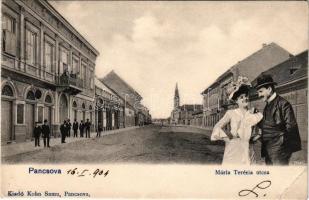
[[[26,29],[26,59],[30,65],[36,64],[37,35]]]

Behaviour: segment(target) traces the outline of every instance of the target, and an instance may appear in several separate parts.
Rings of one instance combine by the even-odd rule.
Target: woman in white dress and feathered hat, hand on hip
[[[225,141],[222,164],[250,164],[249,140],[252,127],[263,118],[262,113],[248,109],[250,86],[248,79],[244,77],[231,85],[229,99],[238,108],[228,110],[213,129],[211,140]],[[227,124],[231,128],[229,132],[223,130]]]

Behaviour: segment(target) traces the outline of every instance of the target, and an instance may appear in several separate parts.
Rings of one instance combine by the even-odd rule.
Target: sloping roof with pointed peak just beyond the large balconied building
[[[122,78],[120,78],[113,70],[99,80],[102,81],[108,88],[117,93],[117,95],[122,99],[126,100],[126,102],[131,106],[134,106],[136,102],[142,100],[141,95],[138,94]]]

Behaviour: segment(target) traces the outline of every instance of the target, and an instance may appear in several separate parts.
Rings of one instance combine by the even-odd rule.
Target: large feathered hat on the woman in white
[[[251,83],[247,77],[239,76],[236,81],[231,82],[227,87],[229,100],[236,100],[240,94],[248,94]]]

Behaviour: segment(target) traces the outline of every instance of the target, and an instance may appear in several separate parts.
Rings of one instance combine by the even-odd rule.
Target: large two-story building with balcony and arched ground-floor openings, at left
[[[53,135],[69,118],[95,117],[99,52],[47,1],[2,1],[1,136],[32,139],[35,121]]]

